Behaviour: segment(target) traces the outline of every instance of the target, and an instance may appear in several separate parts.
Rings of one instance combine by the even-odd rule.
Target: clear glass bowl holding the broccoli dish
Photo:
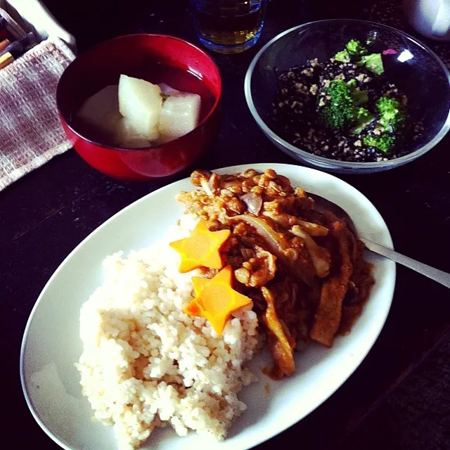
[[[408,145],[410,153],[380,162],[345,162],[312,155],[276,134],[273,121],[276,70],[288,70],[319,58],[324,62],[344,49],[349,39],[365,42],[375,37],[383,49],[394,49],[397,58],[385,68],[386,77],[408,97],[409,114],[422,122],[424,133]],[[307,165],[330,172],[380,172],[416,160],[441,141],[450,129],[450,74],[427,46],[404,32],[365,20],[319,20],[291,28],[271,39],[253,58],[245,75],[245,99],[264,134],[283,152]]]

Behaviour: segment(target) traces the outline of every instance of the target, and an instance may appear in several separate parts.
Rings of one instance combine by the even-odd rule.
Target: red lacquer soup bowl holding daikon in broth
[[[130,149],[87,139],[73,126],[72,117],[86,98],[117,84],[122,73],[153,81],[148,72],[155,64],[191,72],[208,89],[210,102],[193,131],[159,147]],[[206,150],[219,130],[220,96],[219,68],[204,51],[172,36],[130,34],[105,41],[76,58],[60,78],[56,103],[70,142],[89,165],[118,179],[148,180],[186,169]]]

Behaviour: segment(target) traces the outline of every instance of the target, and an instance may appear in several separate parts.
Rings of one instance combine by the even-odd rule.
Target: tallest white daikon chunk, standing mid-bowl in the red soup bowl
[[[157,127],[162,108],[160,86],[143,79],[120,75],[119,110],[142,134]]]

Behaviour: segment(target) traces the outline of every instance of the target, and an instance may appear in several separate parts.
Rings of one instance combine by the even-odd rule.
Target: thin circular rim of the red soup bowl
[[[188,44],[188,46],[193,47],[193,49],[195,49],[196,51],[198,51],[199,53],[202,53],[203,56],[205,56],[207,58],[207,60],[210,60],[210,63],[212,63],[212,65],[214,66],[214,68],[216,68],[217,73],[219,74],[219,86],[217,86],[218,88],[218,95],[214,96],[215,100],[214,100],[214,104],[212,105],[212,107],[210,108],[209,113],[207,113],[207,115],[205,117],[203,117],[203,120],[197,125],[197,127],[195,127],[192,131],[189,131],[188,133],[184,134],[183,136],[180,136],[179,138],[174,139],[173,141],[169,141],[166,143],[163,143],[160,146],[157,147],[141,147],[141,148],[127,148],[127,147],[115,147],[115,146],[109,146],[107,144],[104,143],[100,143],[97,141],[94,141],[92,139],[86,138],[85,136],[82,136],[82,134],[80,134],[76,129],[74,129],[72,127],[72,125],[70,124],[70,121],[68,120],[67,117],[65,117],[65,115],[63,115],[63,113],[61,112],[61,108],[60,108],[60,80],[63,79],[64,76],[64,72],[65,70],[68,70],[68,68],[70,68],[70,66],[72,64],[74,64],[78,58],[83,58],[84,55],[86,55],[87,53],[94,51],[95,49],[97,49],[98,47],[104,45],[106,42],[110,42],[110,41],[117,41],[119,39],[127,39],[129,37],[135,37],[135,36],[145,36],[145,37],[162,37],[165,39],[173,39],[175,41],[181,41],[184,42],[184,44]],[[137,150],[157,150],[160,148],[164,148],[165,146],[168,146],[169,144],[172,144],[176,141],[179,141],[179,139],[184,139],[187,136],[190,136],[191,134],[193,134],[193,132],[198,129],[199,127],[201,127],[203,124],[205,124],[205,122],[212,116],[212,113],[214,113],[215,110],[217,110],[217,106],[219,105],[219,101],[221,99],[222,96],[222,79],[221,79],[221,73],[219,70],[219,67],[217,66],[217,64],[215,63],[215,61],[211,58],[210,55],[208,55],[205,51],[203,51],[202,49],[200,49],[198,46],[192,44],[192,42],[186,41],[184,39],[181,39],[179,37],[175,37],[175,36],[171,36],[170,34],[158,34],[158,33],[133,33],[133,34],[123,34],[122,36],[117,36],[117,37],[113,37],[113,39],[107,39],[105,41],[102,41],[98,44],[96,44],[94,47],[92,47],[92,49],[89,49],[88,51],[86,51],[85,53],[82,53],[82,55],[77,56],[77,58],[75,58],[75,60],[73,60],[67,68],[65,68],[63,75],[61,75],[60,79],[58,80],[58,86],[56,86],[56,108],[58,108],[58,113],[60,114],[60,117],[63,118],[64,120],[64,124],[66,127],[68,127],[68,129],[70,129],[70,131],[72,131],[72,133],[76,134],[80,139],[82,139],[83,141],[89,142],[91,144],[93,144],[94,146],[98,146],[98,147],[102,147],[102,148],[108,148],[109,150],[119,150],[119,151],[137,151]]]

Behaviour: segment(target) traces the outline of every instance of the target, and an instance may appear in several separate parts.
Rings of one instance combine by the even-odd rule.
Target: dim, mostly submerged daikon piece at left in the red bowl
[[[117,122],[122,118],[117,99],[117,84],[106,86],[89,97],[79,108],[75,119],[94,136],[110,138],[115,134]]]

